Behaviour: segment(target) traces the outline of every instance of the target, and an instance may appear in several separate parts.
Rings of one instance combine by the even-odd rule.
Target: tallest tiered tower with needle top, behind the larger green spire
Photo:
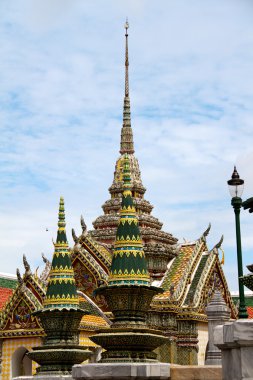
[[[138,159],[134,154],[133,133],[131,128],[128,80],[128,27],[128,23],[126,23],[125,97],[120,142],[121,154],[116,161],[113,182],[109,188],[110,199],[106,200],[102,205],[103,214],[94,220],[94,229],[88,231],[88,234],[99,243],[106,244],[109,248],[112,248],[114,245],[121,208],[121,198],[124,190],[124,154],[127,153],[130,162],[132,197],[138,213],[148,270],[153,280],[161,280],[167,270],[169,260],[178,254],[178,245],[177,239],[171,233],[162,230],[163,223],[152,215],[153,205],[144,198],[146,189],[142,183]]]

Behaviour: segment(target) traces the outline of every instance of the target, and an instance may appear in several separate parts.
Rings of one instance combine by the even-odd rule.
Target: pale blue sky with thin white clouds
[[[251,0],[0,1],[0,271],[15,273],[23,253],[33,268],[51,257],[60,195],[71,244],[80,215],[91,228],[101,214],[119,150],[126,16],[146,199],[179,240],[209,222],[210,248],[224,234],[235,290],[226,181],[236,164],[243,198],[253,195]],[[253,216],[241,219],[246,265]]]

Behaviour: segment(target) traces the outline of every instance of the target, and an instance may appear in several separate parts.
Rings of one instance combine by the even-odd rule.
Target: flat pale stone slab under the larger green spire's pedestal
[[[96,363],[77,364],[72,369],[76,380],[167,380],[170,364],[167,363]]]

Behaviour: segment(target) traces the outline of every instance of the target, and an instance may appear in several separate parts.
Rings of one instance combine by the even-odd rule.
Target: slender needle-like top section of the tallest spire
[[[126,52],[125,52],[125,97],[123,108],[123,126],[121,128],[121,140],[120,140],[120,153],[134,153],[133,131],[131,128],[131,112],[130,112],[130,98],[129,98],[129,76],[128,76],[128,28],[129,24],[126,20]]]

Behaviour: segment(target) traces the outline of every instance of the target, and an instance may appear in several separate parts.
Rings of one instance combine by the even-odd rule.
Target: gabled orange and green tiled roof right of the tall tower
[[[219,260],[222,240],[208,250],[206,236],[204,233],[197,241],[182,244],[161,283],[164,293],[153,300],[154,308],[177,313],[180,318],[206,320],[205,307],[214,290],[219,289],[231,309],[231,318],[236,318]]]

